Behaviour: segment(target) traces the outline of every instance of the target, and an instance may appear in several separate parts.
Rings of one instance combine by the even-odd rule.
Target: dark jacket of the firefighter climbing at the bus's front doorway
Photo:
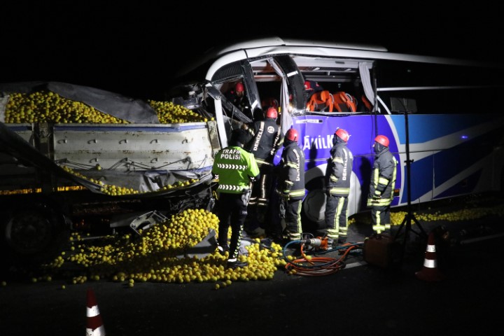
[[[258,165],[273,163],[274,153],[283,143],[283,134],[276,120],[266,118],[256,121],[252,127],[248,127],[248,132],[252,139],[245,146],[245,149],[253,153]]]

